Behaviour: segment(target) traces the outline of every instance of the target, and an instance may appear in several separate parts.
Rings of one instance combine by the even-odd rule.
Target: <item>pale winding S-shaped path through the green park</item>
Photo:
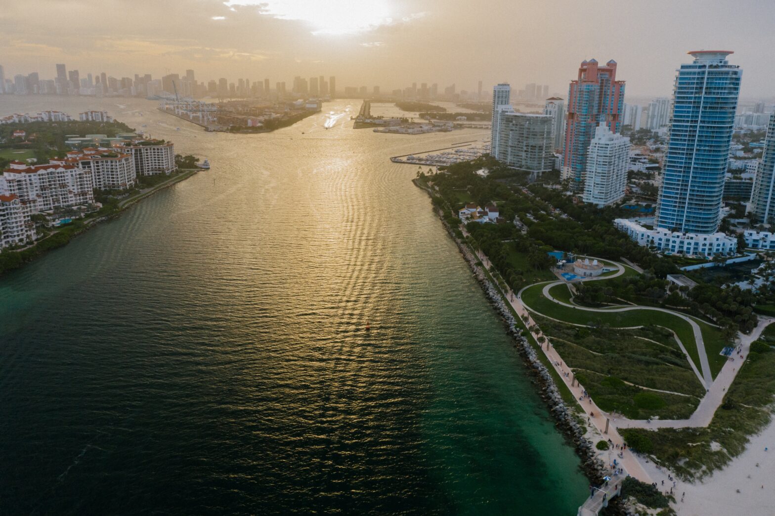
[[[592,258],[594,260],[600,260],[601,262],[609,261],[609,260],[602,260],[601,258],[594,258],[594,256],[588,256],[589,258]],[[618,267],[618,270],[615,274],[611,274],[610,276],[598,276],[598,277],[591,277],[579,280],[578,283],[586,282],[586,281],[594,281],[594,280],[610,280],[615,277],[622,276],[623,273],[625,273],[625,268],[621,263],[611,262],[616,267]],[[658,307],[649,307],[649,306],[622,306],[618,308],[588,308],[583,306],[578,306],[576,304],[568,304],[564,301],[559,301],[556,298],[553,297],[552,294],[549,294],[549,290],[552,287],[555,287],[556,285],[564,285],[567,284],[567,281],[557,280],[552,281],[546,286],[543,287],[542,294],[546,299],[549,299],[549,301],[553,301],[556,304],[560,304],[561,306],[567,307],[567,308],[574,308],[575,310],[583,310],[583,311],[592,311],[592,312],[602,312],[602,313],[610,313],[610,312],[622,312],[622,311],[631,311],[631,310],[650,310],[650,311],[661,311],[666,314],[670,315],[676,315],[679,318],[684,319],[684,321],[688,322],[689,325],[691,325],[692,332],[694,332],[694,342],[695,346],[697,346],[697,353],[700,357],[700,366],[702,369],[702,377],[700,379],[701,383],[704,385],[705,389],[708,389],[711,387],[711,384],[713,384],[713,375],[711,374],[711,366],[708,363],[708,353],[705,353],[705,344],[702,339],[702,330],[700,329],[700,325],[697,324],[697,322],[694,321],[691,317],[688,315],[681,314],[677,311],[668,310],[667,308],[658,308]],[[522,301],[522,292],[524,292],[526,289],[530,287],[534,287],[536,284],[528,285],[527,287],[522,287],[522,289],[518,292],[517,298],[519,301],[522,302],[522,304],[527,308],[528,310],[546,317],[546,315],[542,314],[539,311],[536,311],[532,308],[530,308],[527,304],[525,304],[525,301]],[[673,332],[673,335],[675,335],[675,332]],[[691,359],[691,356],[687,353],[686,347],[684,346],[684,343],[678,339],[678,336],[675,335],[676,340],[678,342],[678,346],[680,347],[681,351],[684,352],[684,355],[686,355],[687,360],[689,360],[689,363],[692,366],[692,369],[694,369],[695,373],[697,372],[697,368],[694,366],[694,362]]]

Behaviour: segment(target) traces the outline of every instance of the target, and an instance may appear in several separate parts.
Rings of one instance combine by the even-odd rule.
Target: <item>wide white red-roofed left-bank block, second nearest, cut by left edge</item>
[[[12,161],[0,176],[0,194],[18,196],[32,213],[94,203],[92,188],[91,174],[72,164]]]

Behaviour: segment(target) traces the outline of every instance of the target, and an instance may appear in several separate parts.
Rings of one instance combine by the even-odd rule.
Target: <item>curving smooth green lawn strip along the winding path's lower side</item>
[[[538,311],[539,314],[550,318],[560,319],[577,325],[591,325],[596,322],[608,324],[614,328],[632,328],[633,326],[660,325],[673,330],[684,343],[687,353],[694,365],[701,370],[700,356],[697,350],[697,342],[694,341],[694,332],[691,325],[677,315],[652,310],[629,310],[614,312],[591,312],[578,308],[568,308],[561,304],[553,303],[543,296],[544,284],[535,284],[522,291],[522,301],[529,308]]]

